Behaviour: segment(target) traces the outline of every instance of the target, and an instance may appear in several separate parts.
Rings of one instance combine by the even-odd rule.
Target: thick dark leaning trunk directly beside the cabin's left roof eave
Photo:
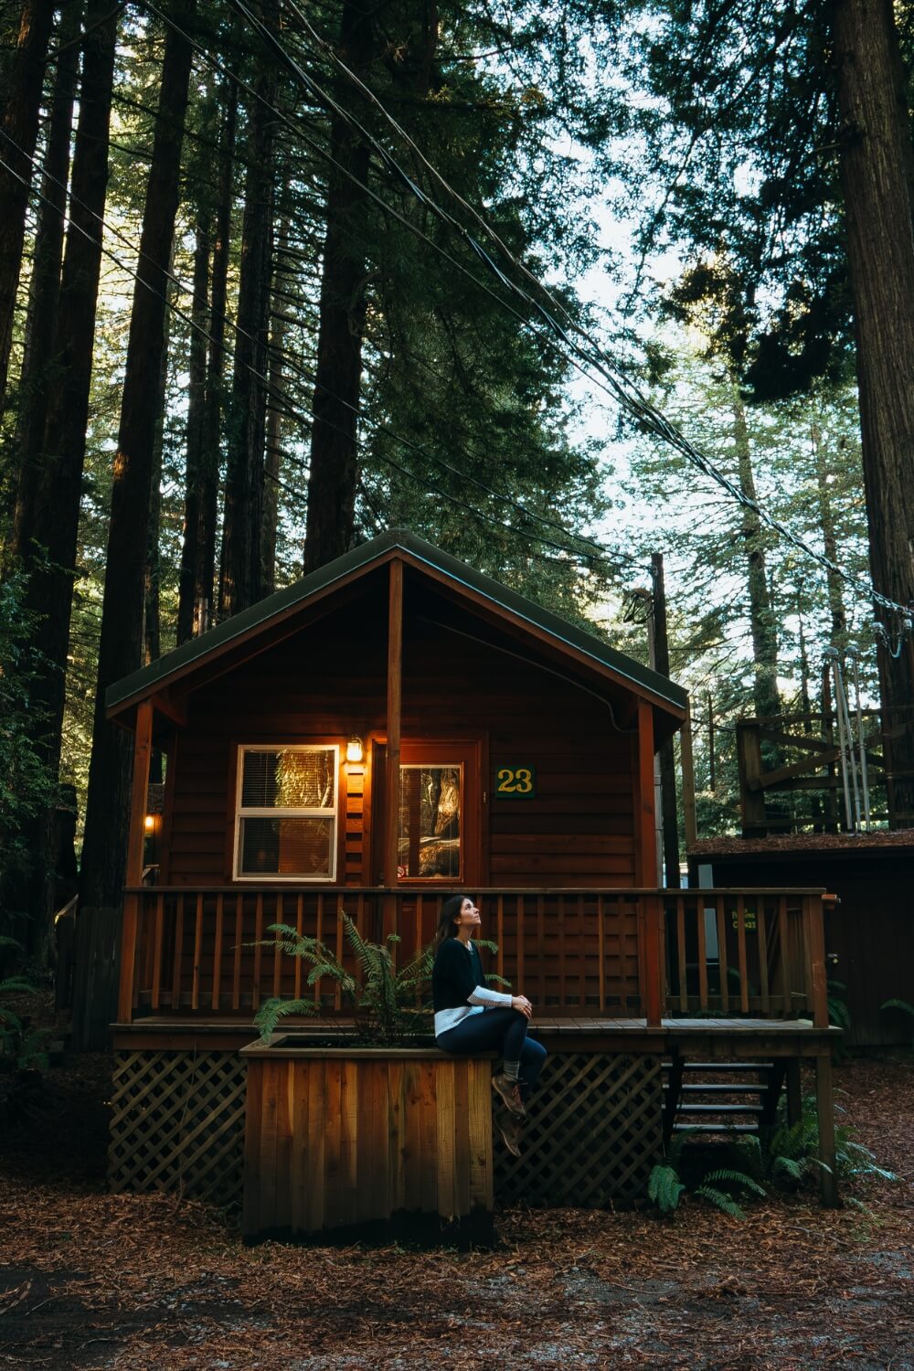
[[[184,0],[182,22],[193,5]],[[138,280],[133,293],[127,359],[121,400],[121,428],[114,461],[111,521],[106,563],[99,686],[89,765],[82,871],[81,923],[88,936],[77,949],[77,982],[93,983],[93,1002],[82,1004],[74,1031],[85,1047],[99,1047],[114,1009],[114,965],[81,967],[92,947],[92,923],[107,924],[121,905],[126,860],[126,823],[132,771],[130,738],[106,718],[108,686],[143,661],[143,603],[155,426],[160,409],[162,355],[167,270],[174,239],[181,171],[184,115],[188,103],[192,48],[169,29],[162,64],[159,108],[152,144],[140,236]]]

